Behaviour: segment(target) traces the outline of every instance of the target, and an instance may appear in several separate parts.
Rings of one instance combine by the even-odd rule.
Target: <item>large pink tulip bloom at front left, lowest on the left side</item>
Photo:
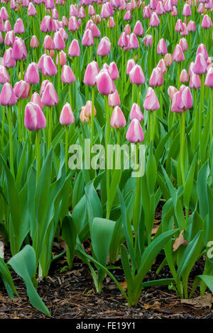
[[[28,130],[42,130],[46,127],[46,119],[40,106],[33,102],[27,103],[24,115],[24,125]]]

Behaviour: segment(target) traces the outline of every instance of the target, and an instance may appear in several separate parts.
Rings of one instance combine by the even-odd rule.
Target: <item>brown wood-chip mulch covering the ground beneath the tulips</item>
[[[155,228],[160,222],[160,211],[155,214]],[[158,221],[159,220],[159,221]],[[89,242],[84,244],[89,250]],[[65,249],[64,242],[53,244],[54,254],[59,254]],[[4,259],[11,258],[9,247],[4,249]],[[157,278],[171,278],[170,269],[164,266],[158,276],[155,271],[163,261],[163,254],[159,254],[153,263],[151,271],[146,276],[146,281]],[[65,255],[58,261],[53,261],[48,277],[38,283],[38,294],[48,307],[51,318],[54,319],[213,319],[212,307],[205,305],[187,305],[181,303],[174,290],[168,286],[155,286],[143,288],[141,298],[136,307],[128,307],[126,299],[121,295],[111,278],[106,277],[101,293],[94,288],[89,268],[75,256],[72,270],[63,271],[66,266]],[[121,261],[116,263],[121,267]],[[203,272],[204,261],[197,261],[190,273],[189,288],[195,276]],[[124,271],[116,269],[111,271],[117,280],[125,281]],[[41,312],[32,307],[26,293],[23,280],[11,271],[13,281],[18,291],[18,297],[12,301],[6,293],[4,284],[0,279],[0,319],[48,319]],[[209,293],[209,290],[207,290]],[[193,297],[199,296],[199,290]],[[212,298],[213,300],[213,298]]]

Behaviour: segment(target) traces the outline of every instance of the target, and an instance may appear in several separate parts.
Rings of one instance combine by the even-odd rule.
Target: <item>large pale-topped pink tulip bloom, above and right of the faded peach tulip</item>
[[[96,82],[97,89],[102,95],[112,94],[116,90],[114,82],[112,81],[111,77],[109,76],[109,72],[107,72],[106,69],[102,69],[102,71],[97,74]]]

